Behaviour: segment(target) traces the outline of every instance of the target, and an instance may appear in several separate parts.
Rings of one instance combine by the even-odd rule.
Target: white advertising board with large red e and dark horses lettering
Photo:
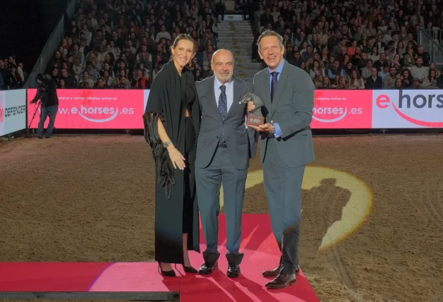
[[[372,128],[443,128],[442,90],[372,90]]]

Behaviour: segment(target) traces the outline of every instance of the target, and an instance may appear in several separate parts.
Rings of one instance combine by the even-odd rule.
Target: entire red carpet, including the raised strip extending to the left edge
[[[307,301],[317,302],[303,272],[296,284],[286,289],[270,291],[265,288],[269,280],[261,272],[276,267],[279,249],[272,235],[268,215],[243,215],[241,252],[245,254],[241,264],[242,276],[226,277],[227,263],[226,224],[224,215],[219,217],[219,270],[209,276],[186,275],[164,278],[157,272],[157,263],[48,263],[1,262],[0,291],[4,292],[174,292],[180,291],[180,301]],[[204,238],[200,232],[202,250]],[[202,255],[191,252],[190,260],[198,268]]]

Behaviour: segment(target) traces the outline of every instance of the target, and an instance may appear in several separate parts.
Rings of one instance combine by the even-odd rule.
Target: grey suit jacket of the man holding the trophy
[[[277,138],[277,152],[288,167],[298,167],[315,159],[310,122],[314,108],[314,90],[310,75],[301,68],[284,62],[274,100],[271,102],[269,69],[254,76],[254,92],[265,103],[265,121],[279,123],[281,138]],[[262,133],[260,159],[265,159],[267,132]],[[274,138],[273,138],[274,139]]]

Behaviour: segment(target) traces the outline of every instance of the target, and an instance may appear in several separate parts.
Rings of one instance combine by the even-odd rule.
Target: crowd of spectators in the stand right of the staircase
[[[443,70],[417,44],[420,28],[443,30],[436,0],[267,1],[253,25],[256,38],[279,32],[286,60],[319,89],[443,88]]]

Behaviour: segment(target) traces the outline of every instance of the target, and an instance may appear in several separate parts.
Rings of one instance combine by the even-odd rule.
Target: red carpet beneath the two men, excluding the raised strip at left
[[[200,231],[200,243],[205,238]],[[241,302],[317,302],[315,292],[310,287],[303,272],[298,275],[296,284],[281,290],[268,290],[265,283],[272,278],[262,277],[264,270],[279,265],[280,251],[272,234],[269,215],[243,215],[242,241],[240,252],[244,253],[241,262],[241,277],[226,277],[226,222],[224,215],[219,217],[219,269],[209,276],[188,274],[184,272],[181,279],[180,301],[241,301]],[[200,250],[205,245],[200,244]],[[202,255],[190,253],[190,261],[195,267],[202,265]]]

